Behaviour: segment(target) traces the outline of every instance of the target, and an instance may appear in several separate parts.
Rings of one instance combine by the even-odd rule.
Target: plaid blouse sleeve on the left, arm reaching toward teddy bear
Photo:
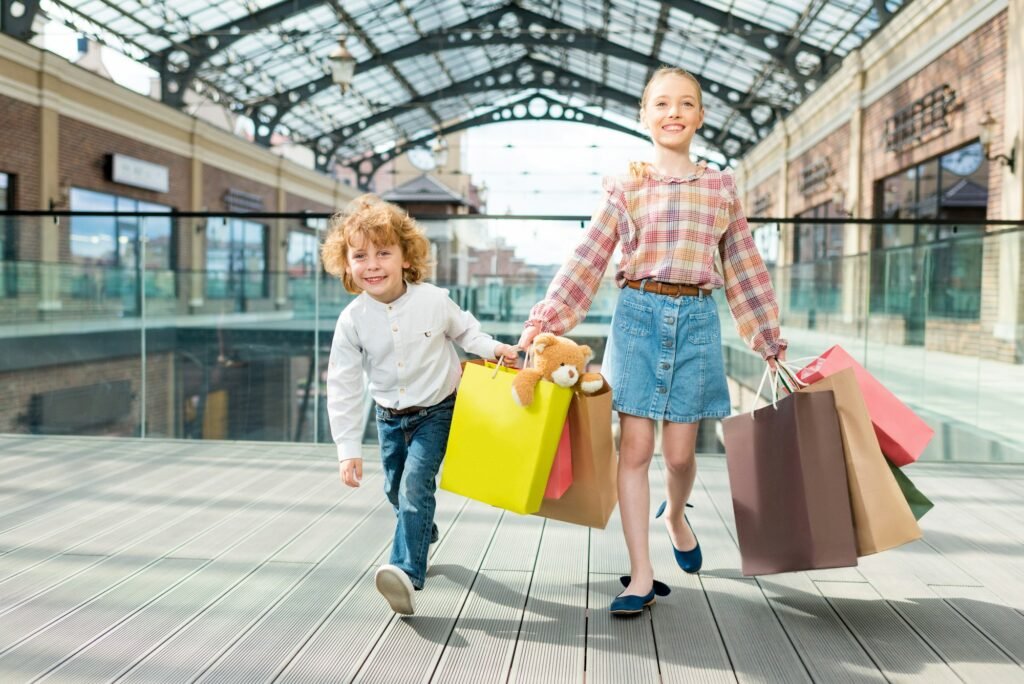
[[[609,177],[602,186],[604,197],[583,239],[551,281],[546,297],[530,309],[527,326],[562,335],[575,328],[590,310],[618,242],[618,226],[625,213],[622,183]]]

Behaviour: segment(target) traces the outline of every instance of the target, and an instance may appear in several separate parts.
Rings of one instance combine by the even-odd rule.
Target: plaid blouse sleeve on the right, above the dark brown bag
[[[758,253],[732,174],[723,176],[729,226],[719,250],[725,276],[725,296],[739,336],[763,358],[774,356],[787,342],[779,335],[778,303],[771,276]]]

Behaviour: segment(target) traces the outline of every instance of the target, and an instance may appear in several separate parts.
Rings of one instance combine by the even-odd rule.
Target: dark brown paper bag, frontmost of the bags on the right
[[[833,393],[722,421],[743,574],[857,564]]]

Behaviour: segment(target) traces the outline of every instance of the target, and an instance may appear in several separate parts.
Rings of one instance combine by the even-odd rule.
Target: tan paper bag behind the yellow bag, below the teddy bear
[[[572,484],[560,499],[545,499],[535,515],[604,529],[618,503],[608,383],[594,394],[573,393],[567,420]]]

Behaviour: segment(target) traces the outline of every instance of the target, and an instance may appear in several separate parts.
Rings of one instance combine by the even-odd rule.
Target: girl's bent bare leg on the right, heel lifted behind
[[[690,499],[693,481],[697,476],[694,452],[698,425],[668,421],[662,424],[662,453],[665,455],[667,475],[665,489],[669,500],[665,509],[665,524],[669,528],[672,543],[680,551],[689,551],[697,545],[693,531],[683,519],[683,513],[684,504]]]

